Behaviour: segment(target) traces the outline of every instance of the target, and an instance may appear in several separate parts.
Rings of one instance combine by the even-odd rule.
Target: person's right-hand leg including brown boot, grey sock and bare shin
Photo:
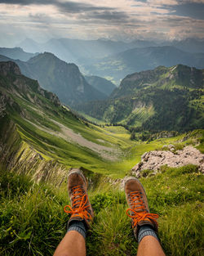
[[[157,238],[157,214],[149,213],[144,187],[135,177],[125,183],[126,201],[136,240],[139,242],[137,256],[165,256]]]

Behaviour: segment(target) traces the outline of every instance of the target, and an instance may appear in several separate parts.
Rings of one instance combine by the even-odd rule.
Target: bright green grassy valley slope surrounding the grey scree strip
[[[85,125],[80,119],[76,119],[69,111],[62,111],[55,108],[36,106],[32,102],[22,97],[14,97],[14,100],[26,112],[26,118],[11,112],[10,117],[17,125],[20,137],[33,146],[35,150],[46,159],[56,159],[67,168],[84,167],[96,173],[111,174],[113,177],[124,177],[135,163],[140,161],[140,155],[145,151],[153,150],[157,146],[168,143],[169,140],[154,141],[145,144],[130,140],[130,132],[122,127],[98,127],[93,124]],[[42,99],[45,106],[50,106],[50,102]],[[53,107],[53,106],[50,106]],[[37,124],[34,126],[30,122]],[[51,132],[60,132],[58,122],[73,132],[80,133],[88,141],[92,141],[99,146],[112,147],[118,150],[118,159],[109,161],[102,158],[95,151],[76,143],[65,140],[64,138],[53,136]],[[43,131],[41,128],[49,131]],[[173,139],[173,141],[178,138]],[[115,153],[110,153],[114,156]]]

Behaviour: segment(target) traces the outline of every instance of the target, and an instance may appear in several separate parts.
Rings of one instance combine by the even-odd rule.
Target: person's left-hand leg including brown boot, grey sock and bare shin
[[[54,256],[85,256],[86,231],[90,228],[94,214],[87,195],[87,182],[82,172],[73,169],[68,177],[68,191],[72,207],[66,205],[65,213],[71,213],[68,231],[55,249]]]

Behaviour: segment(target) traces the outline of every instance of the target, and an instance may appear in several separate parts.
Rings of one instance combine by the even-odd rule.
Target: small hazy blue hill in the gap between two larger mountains
[[[112,83],[111,81],[100,78],[96,75],[85,75],[84,76],[86,81],[91,84],[92,87],[94,87],[96,90],[103,92],[106,96],[109,96],[111,92],[116,88],[116,85]]]

